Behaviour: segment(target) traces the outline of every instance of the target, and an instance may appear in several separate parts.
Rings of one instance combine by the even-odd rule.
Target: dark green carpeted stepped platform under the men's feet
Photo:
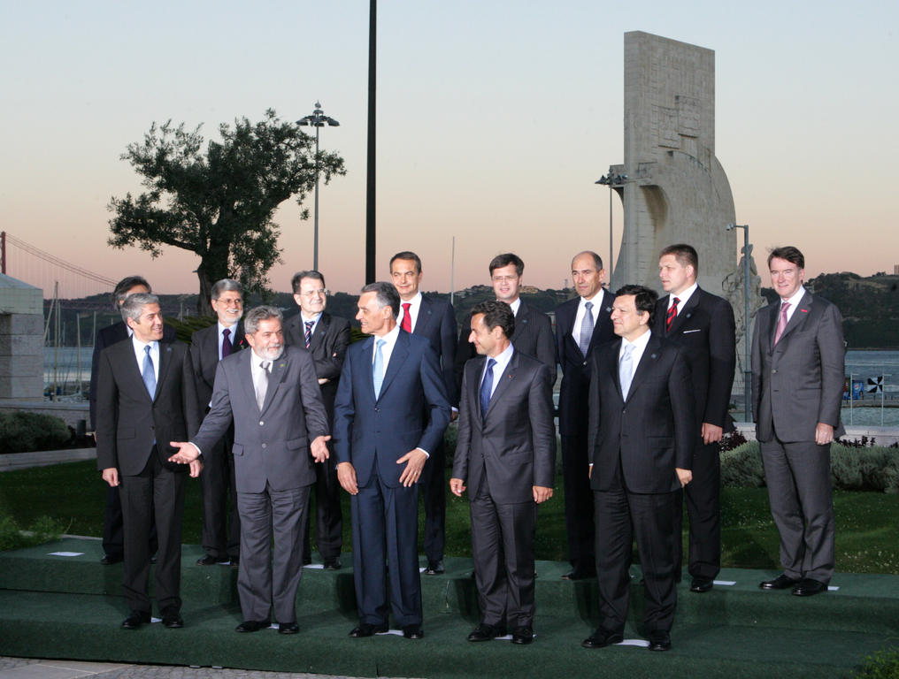
[[[50,556],[50,552],[82,552]],[[167,665],[230,666],[329,675],[414,677],[848,676],[863,657],[899,645],[899,578],[838,574],[837,591],[807,599],[762,592],[775,573],[725,569],[706,595],[679,590],[673,650],[639,646],[586,650],[597,622],[593,580],[566,582],[567,564],[539,562],[537,639],[530,647],[494,640],[472,644],[477,622],[471,562],[447,560],[447,572],[422,578],[425,638],[349,639],[356,621],[352,569],[305,569],[298,595],[300,633],[237,634],[236,571],[199,567],[200,548],[185,546],[185,627],[119,629],[127,615],[121,567],[103,567],[100,542],[67,539],[0,552],[0,655],[70,657]],[[350,564],[350,555],[344,555]],[[634,569],[638,578],[638,569]],[[635,579],[636,582],[636,579]],[[634,586],[626,637],[640,640],[642,588]]]

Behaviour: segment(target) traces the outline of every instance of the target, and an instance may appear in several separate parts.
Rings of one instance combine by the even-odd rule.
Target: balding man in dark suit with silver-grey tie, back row
[[[565,479],[565,529],[572,566],[562,578],[580,580],[596,575],[593,492],[590,479],[584,473],[590,463],[587,452],[590,365],[596,348],[615,339],[610,317],[615,295],[602,289],[606,271],[596,252],[575,255],[571,276],[578,296],[556,307],[556,359],[562,368],[559,435]]]

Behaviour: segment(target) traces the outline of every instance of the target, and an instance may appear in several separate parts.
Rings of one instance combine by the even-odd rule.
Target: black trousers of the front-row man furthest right
[[[646,632],[670,631],[677,605],[672,493],[594,490],[600,626],[621,632],[628,618],[631,544],[636,535],[645,590]]]

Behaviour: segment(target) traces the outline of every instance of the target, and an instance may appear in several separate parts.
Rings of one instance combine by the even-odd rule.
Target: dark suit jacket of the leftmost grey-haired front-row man
[[[134,476],[144,470],[156,441],[156,454],[167,469],[187,471],[167,462],[177,450],[169,441],[184,441],[199,420],[187,345],[159,342],[159,377],[151,399],[140,375],[131,341],[120,341],[100,354],[97,377],[97,468],[116,467]]]

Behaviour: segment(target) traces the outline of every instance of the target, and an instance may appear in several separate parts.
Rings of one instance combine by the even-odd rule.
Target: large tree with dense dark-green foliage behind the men
[[[262,292],[280,256],[275,210],[294,196],[302,207],[316,172],[325,183],[346,173],[343,158],[324,151],[316,157],[315,138],[271,109],[261,122],[236,119],[218,132],[221,140],[204,149],[200,127],[153,123],[143,142],[121,155],[147,191],[113,197],[108,206],[113,247],[138,246],[156,258],[173,245],[200,257],[199,313],[210,313],[209,293],[220,278]]]

